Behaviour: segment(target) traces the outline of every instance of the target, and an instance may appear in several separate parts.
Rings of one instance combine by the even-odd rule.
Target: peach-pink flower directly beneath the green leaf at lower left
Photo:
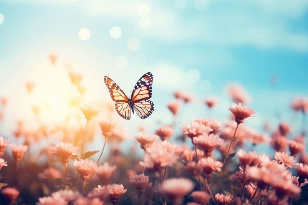
[[[77,172],[80,174],[80,178],[85,181],[89,179],[90,175],[94,171],[94,169],[97,167],[96,163],[93,162],[93,160],[88,159],[81,159],[80,161],[75,161],[73,166],[77,170]]]

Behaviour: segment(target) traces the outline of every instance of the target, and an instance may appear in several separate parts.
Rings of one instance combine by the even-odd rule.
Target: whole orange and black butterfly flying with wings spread
[[[125,120],[131,119],[131,110],[141,119],[148,118],[154,111],[154,104],[149,99],[152,97],[152,73],[145,73],[137,81],[131,98],[128,98],[122,89],[111,78],[104,76],[104,82],[113,101],[116,112]]]

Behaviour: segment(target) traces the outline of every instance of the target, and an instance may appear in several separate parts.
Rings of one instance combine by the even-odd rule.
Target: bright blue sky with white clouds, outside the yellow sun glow
[[[44,79],[47,57],[56,53],[57,66],[71,64],[84,73],[88,101],[110,100],[104,75],[128,94],[142,74],[153,73],[153,115],[117,118],[132,134],[140,124],[152,132],[157,121],[170,123],[166,104],[178,89],[195,96],[180,122],[207,116],[202,100],[208,95],[220,99],[210,114],[226,120],[231,82],[247,90],[257,112],[247,124],[261,129],[268,120],[276,126],[273,96],[283,121],[291,121],[292,98],[307,96],[307,8],[307,0],[1,0],[0,95],[15,99],[17,118],[24,81]],[[118,39],[110,35],[114,26],[122,30]],[[79,38],[82,28],[91,31],[86,41]]]

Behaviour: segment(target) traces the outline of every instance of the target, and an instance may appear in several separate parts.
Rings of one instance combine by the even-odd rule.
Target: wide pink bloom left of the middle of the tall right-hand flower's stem
[[[215,148],[224,142],[218,135],[203,134],[193,138],[193,144],[198,145],[205,152],[205,156],[211,156]]]

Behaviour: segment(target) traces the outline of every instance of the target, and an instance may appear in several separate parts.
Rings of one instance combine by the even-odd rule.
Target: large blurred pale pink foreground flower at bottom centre
[[[172,178],[165,180],[161,186],[160,191],[173,202],[180,201],[185,194],[192,191],[194,184],[189,179]]]

